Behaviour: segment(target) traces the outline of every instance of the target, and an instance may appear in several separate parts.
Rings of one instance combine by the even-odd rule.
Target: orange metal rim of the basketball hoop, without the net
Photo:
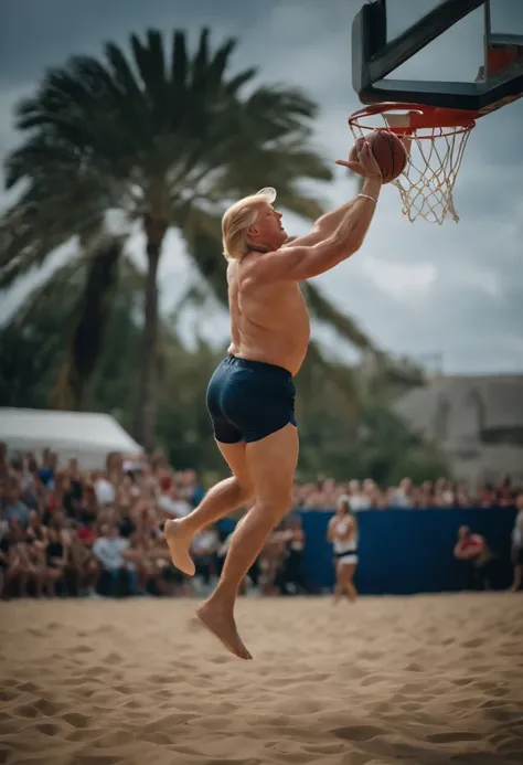
[[[375,115],[385,115],[387,111],[403,111],[408,114],[408,126],[402,127],[380,127],[365,124],[365,118]],[[445,109],[425,104],[404,104],[398,102],[385,102],[382,104],[371,104],[349,117],[351,127],[359,127],[361,130],[388,130],[398,136],[412,135],[416,130],[433,130],[436,132],[428,135],[417,135],[416,138],[435,138],[442,135],[459,135],[468,132],[476,125],[476,113],[463,109]],[[439,130],[438,130],[439,129]]]

